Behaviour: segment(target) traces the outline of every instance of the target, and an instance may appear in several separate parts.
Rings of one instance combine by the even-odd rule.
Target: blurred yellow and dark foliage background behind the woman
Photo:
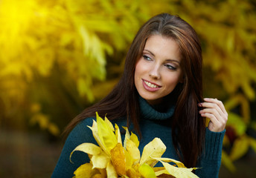
[[[177,14],[228,111],[220,177],[256,177],[255,0],[0,0],[0,177],[51,177],[65,125],[106,96],[138,28]]]

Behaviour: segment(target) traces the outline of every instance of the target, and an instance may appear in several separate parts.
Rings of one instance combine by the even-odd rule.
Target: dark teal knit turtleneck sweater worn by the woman
[[[171,105],[169,108],[167,108],[166,112],[159,112],[157,111],[157,108],[161,108],[161,105],[160,107],[151,106],[141,97],[139,98],[139,104],[141,109],[141,118],[139,124],[142,136],[138,149],[141,151],[141,154],[144,146],[151,142],[154,138],[158,137],[167,147],[162,157],[179,160],[179,156],[176,154],[175,148],[173,147],[171,125],[167,124],[170,123],[167,121],[171,119],[171,116],[173,116],[175,107]],[[71,161],[73,163],[70,162],[69,156],[71,151],[73,151],[77,145],[80,145],[83,142],[92,142],[97,145],[97,142],[92,136],[92,131],[87,127],[88,125],[92,126],[93,119],[95,118],[84,119],[68,135],[52,177],[73,177],[74,171],[80,165],[89,162],[88,156],[81,151],[75,151],[74,154],[72,154]],[[119,128],[122,128],[122,126],[127,126],[126,119],[113,120],[112,123],[118,124]],[[209,131],[208,128],[206,129],[205,150],[203,151],[203,154],[199,158],[199,162],[196,165],[196,167],[199,168],[196,170],[196,175],[199,177],[218,177],[224,134],[225,131],[215,133]],[[122,139],[124,141],[124,134],[122,134]],[[159,162],[157,166],[162,165]]]

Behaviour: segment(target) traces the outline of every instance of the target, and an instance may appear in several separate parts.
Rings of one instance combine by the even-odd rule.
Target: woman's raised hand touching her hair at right
[[[225,111],[223,102],[217,99],[204,99],[205,102],[198,105],[203,109],[199,111],[201,116],[210,119],[208,128],[210,131],[221,132],[225,129],[225,125],[228,121],[228,113]]]

